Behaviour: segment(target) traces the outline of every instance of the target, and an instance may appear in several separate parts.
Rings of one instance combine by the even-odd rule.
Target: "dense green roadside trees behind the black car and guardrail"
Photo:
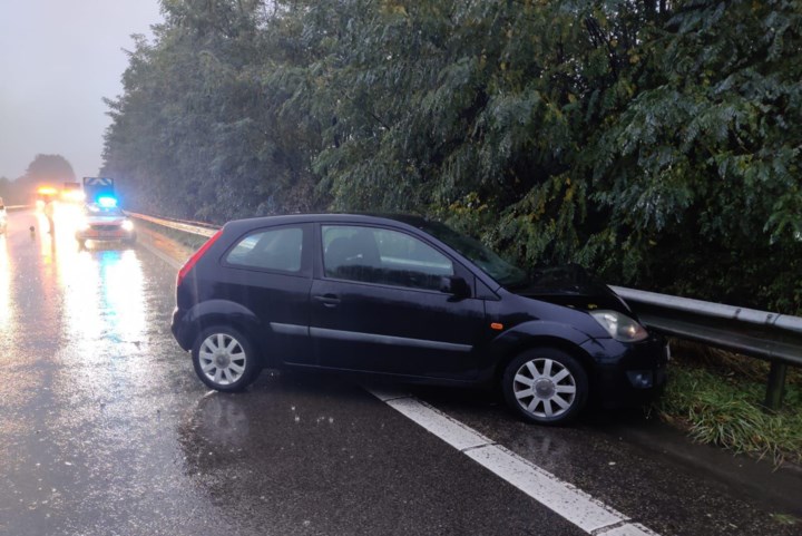
[[[802,313],[802,2],[163,0],[109,100],[144,212],[434,215]]]

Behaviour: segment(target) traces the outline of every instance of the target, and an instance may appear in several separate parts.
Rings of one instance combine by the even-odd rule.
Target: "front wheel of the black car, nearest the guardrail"
[[[587,373],[570,354],[536,348],[516,357],[501,379],[507,405],[538,425],[564,425],[575,419],[588,397]]]

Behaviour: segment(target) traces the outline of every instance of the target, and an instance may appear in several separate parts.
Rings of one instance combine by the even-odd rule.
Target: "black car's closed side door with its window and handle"
[[[370,225],[321,225],[310,335],[317,364],[469,380],[489,334],[483,300],[441,290],[473,276],[420,237]]]

